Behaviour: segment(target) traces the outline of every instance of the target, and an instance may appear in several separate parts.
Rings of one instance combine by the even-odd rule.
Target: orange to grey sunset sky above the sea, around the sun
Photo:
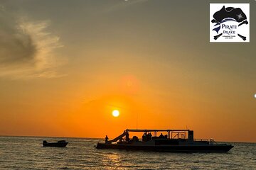
[[[256,1],[226,1],[250,3],[247,43],[209,42],[213,2],[0,0],[0,135],[256,142]]]

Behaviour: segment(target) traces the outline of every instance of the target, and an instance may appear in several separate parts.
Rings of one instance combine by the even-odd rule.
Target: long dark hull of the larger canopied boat
[[[119,145],[98,143],[97,149],[126,149],[126,150],[145,150],[156,152],[228,152],[233,148],[232,145]]]

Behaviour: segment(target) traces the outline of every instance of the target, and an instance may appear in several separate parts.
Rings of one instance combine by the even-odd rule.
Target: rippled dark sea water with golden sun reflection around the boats
[[[70,142],[42,147],[43,140]],[[132,152],[95,149],[98,140],[0,137],[0,169],[256,169],[256,143],[232,143],[228,153]]]

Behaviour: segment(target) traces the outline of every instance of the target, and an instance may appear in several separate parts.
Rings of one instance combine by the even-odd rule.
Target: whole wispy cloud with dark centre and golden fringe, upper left
[[[31,21],[0,8],[0,77],[60,77],[55,50],[60,38],[47,31],[50,21]]]

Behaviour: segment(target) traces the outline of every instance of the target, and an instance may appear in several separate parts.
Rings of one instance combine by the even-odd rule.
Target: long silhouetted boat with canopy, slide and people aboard
[[[133,136],[130,139],[129,132],[144,132],[144,135],[142,135],[141,139],[137,136]],[[161,135],[158,136],[158,132],[161,132]],[[233,148],[233,145],[217,143],[213,139],[194,139],[193,130],[127,129],[113,140],[108,140],[106,136],[105,142],[97,142],[95,147],[97,149],[146,150],[156,152],[228,152]]]

